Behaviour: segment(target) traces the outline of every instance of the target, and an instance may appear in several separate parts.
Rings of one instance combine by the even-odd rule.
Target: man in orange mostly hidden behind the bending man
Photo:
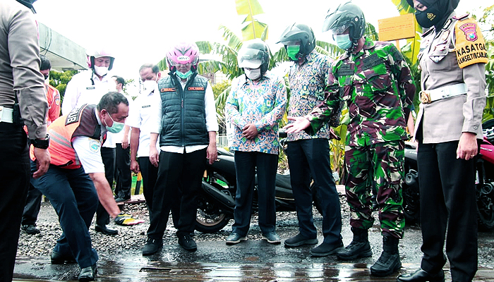
[[[47,125],[50,125],[60,116],[60,92],[50,85],[48,81],[52,63],[50,63],[47,56],[40,55],[40,59],[40,73],[44,76],[44,92],[47,94],[48,102]],[[28,198],[25,201],[21,226],[23,231],[30,235],[40,233],[40,229],[36,228],[36,220],[37,215],[40,213],[42,197],[40,190],[35,189],[31,184],[28,190]]]

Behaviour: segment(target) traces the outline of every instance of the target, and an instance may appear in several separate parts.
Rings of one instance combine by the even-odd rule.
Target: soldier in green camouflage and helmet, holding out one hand
[[[370,257],[368,229],[373,226],[369,187],[378,191],[382,253],[370,274],[387,276],[402,265],[398,242],[403,238],[402,182],[406,118],[415,94],[406,62],[393,44],[363,37],[363,12],[351,2],[326,17],[323,30],[331,30],[339,48],[347,52],[335,61],[328,79],[325,103],[305,117],[290,118],[289,131],[308,128],[317,132],[337,114],[339,101],[347,102],[349,125],[345,149],[345,192],[354,239],[339,250],[339,259]],[[311,125],[309,127],[309,125]]]

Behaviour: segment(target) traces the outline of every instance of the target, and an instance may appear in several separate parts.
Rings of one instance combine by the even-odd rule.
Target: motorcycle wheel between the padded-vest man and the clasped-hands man
[[[213,183],[212,185],[215,185]],[[204,195],[198,197],[198,211],[195,216],[195,230],[203,233],[215,233],[227,226],[231,215],[222,211],[218,204]]]

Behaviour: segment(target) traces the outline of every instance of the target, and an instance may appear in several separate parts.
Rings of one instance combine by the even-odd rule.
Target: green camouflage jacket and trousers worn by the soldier
[[[358,54],[344,54],[333,65],[329,94],[308,116],[317,132],[347,102],[350,123],[345,149],[345,188],[350,225],[373,225],[370,188],[378,190],[382,233],[402,238],[402,179],[406,118],[415,86],[409,67],[393,44],[366,39]]]

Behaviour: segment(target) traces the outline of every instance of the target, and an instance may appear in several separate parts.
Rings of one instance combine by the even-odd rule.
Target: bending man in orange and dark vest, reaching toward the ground
[[[79,281],[93,281],[98,255],[89,226],[98,198],[120,225],[141,223],[120,212],[105,178],[100,154],[107,132],[118,133],[128,116],[128,101],[119,92],[104,94],[96,105],[84,104],[48,127],[52,156],[47,173],[32,184],[48,197],[64,231],[52,252],[52,264],[77,262]],[[35,169],[32,162],[31,168]]]

